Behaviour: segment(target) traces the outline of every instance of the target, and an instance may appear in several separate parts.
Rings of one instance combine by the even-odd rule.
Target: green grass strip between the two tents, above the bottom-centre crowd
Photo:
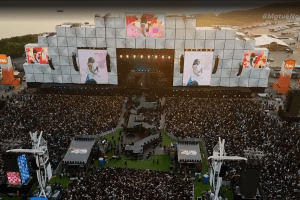
[[[111,158],[113,153],[108,153],[107,158]],[[153,163],[154,159],[154,163]],[[157,164],[158,160],[158,164]],[[169,171],[171,160],[168,155],[154,155],[150,160],[126,160],[127,161],[127,168],[134,168],[134,169],[150,169],[150,170],[162,170],[162,171]],[[94,166],[99,168],[99,161],[94,162]],[[106,167],[125,167],[125,156],[121,155],[120,160],[110,160],[108,164],[105,165]]]

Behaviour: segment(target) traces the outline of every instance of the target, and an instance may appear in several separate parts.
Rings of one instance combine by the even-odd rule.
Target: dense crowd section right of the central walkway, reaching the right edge
[[[244,156],[243,150],[263,151],[260,185],[268,199],[300,199],[300,126],[265,109],[273,104],[255,99],[167,98],[166,130],[177,137],[201,137],[208,156],[218,137],[225,139],[227,155]],[[228,163],[228,179],[240,174],[240,163]]]

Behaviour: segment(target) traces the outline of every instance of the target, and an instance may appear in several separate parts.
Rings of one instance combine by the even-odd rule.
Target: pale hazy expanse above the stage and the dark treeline
[[[277,1],[280,2],[280,1]],[[26,34],[55,32],[64,22],[94,24],[95,14],[156,12],[166,15],[220,14],[262,7],[274,1],[1,1],[0,39]],[[62,9],[64,12],[57,12]]]

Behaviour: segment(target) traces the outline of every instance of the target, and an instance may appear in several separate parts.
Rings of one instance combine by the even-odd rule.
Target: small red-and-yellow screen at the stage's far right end
[[[244,51],[244,68],[265,68],[267,62],[266,51]]]

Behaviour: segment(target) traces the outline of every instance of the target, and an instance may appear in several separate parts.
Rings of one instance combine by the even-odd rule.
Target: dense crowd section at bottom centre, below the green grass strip
[[[192,196],[193,183],[188,178],[162,171],[103,168],[71,182],[62,199],[190,200]]]

